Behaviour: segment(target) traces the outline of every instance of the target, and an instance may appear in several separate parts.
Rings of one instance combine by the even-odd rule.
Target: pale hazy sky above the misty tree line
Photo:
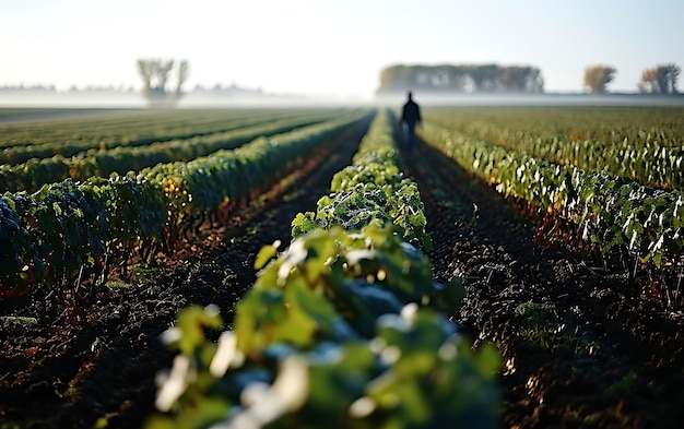
[[[393,63],[539,67],[580,92],[587,65],[684,68],[683,0],[0,0],[0,85],[140,86],[138,58],[190,62],[186,88],[369,97]],[[684,86],[680,79],[680,91]]]

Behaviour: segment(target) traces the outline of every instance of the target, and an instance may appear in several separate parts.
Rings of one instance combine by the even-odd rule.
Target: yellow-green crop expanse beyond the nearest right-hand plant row
[[[431,110],[431,120],[536,159],[628,177],[663,189],[684,187],[680,108]]]

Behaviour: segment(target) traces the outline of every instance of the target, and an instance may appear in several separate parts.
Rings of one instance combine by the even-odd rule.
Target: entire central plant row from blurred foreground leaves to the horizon
[[[380,111],[290,247],[261,249],[232,331],[207,339],[215,307],[179,313],[146,428],[498,427],[500,356],[458,335],[460,283],[436,284],[406,241],[429,247],[393,126]]]

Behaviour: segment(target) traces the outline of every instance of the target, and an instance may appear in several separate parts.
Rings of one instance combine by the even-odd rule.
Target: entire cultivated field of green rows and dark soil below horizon
[[[0,428],[679,428],[684,108],[398,114],[0,109]]]

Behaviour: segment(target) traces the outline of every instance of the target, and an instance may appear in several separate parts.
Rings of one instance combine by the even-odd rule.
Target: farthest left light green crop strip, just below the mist
[[[131,120],[130,116],[114,117],[107,120],[93,122],[74,121],[50,123],[44,130],[35,130],[36,124],[28,127],[4,127],[0,147],[0,164],[16,165],[35,158],[56,155],[69,158],[74,155],[108,151],[115,147],[146,146],[170,140],[191,139],[220,132],[226,132],[256,126],[276,119],[294,118],[295,116],[310,115],[305,110],[220,110],[220,115],[211,115],[205,110],[169,112],[140,112]],[[202,115],[198,117],[198,115]]]

